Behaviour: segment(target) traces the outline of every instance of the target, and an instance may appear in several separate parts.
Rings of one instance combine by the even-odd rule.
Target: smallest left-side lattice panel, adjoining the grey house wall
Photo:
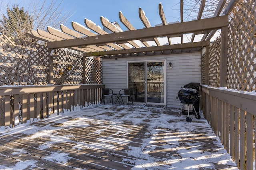
[[[86,61],[87,84],[102,84],[102,62],[88,58]]]

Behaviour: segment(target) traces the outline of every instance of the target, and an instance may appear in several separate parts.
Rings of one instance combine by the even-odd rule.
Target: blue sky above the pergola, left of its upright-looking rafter
[[[43,0],[38,0],[43,2]],[[121,11],[124,16],[132,23],[136,29],[144,27],[140,21],[138,9],[144,10],[146,17],[150,21],[153,27],[156,24],[161,23],[161,19],[158,12],[158,4],[161,2],[167,22],[180,21],[180,0],[57,0],[57,4],[61,3],[63,11],[73,14],[68,19],[68,23],[65,26],[72,28],[71,22],[75,21],[85,26],[84,18],[92,20],[96,25],[102,24],[100,22],[100,16],[107,18],[110,22],[117,21],[123,30],[127,28],[120,22],[118,13]],[[10,0],[4,3],[18,4],[20,7],[24,6],[27,9],[27,4],[30,4],[32,0]],[[33,0],[34,2],[34,0]],[[51,0],[46,0],[46,3],[50,3]],[[1,6],[3,7],[3,5]],[[3,9],[1,9],[3,12]],[[51,26],[51,25],[48,25]],[[59,29],[59,28],[57,28]]]

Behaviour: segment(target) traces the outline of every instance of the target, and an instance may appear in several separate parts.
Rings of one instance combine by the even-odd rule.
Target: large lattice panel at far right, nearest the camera
[[[256,2],[244,3],[230,21],[228,88],[256,90]]]

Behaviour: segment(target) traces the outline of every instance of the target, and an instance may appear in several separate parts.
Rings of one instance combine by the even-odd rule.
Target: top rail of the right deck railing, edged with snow
[[[256,115],[256,93],[201,86],[202,92]]]

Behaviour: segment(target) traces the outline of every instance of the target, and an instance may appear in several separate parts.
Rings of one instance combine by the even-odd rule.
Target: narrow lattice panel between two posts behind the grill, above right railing
[[[210,45],[209,85],[220,86],[220,38]]]

